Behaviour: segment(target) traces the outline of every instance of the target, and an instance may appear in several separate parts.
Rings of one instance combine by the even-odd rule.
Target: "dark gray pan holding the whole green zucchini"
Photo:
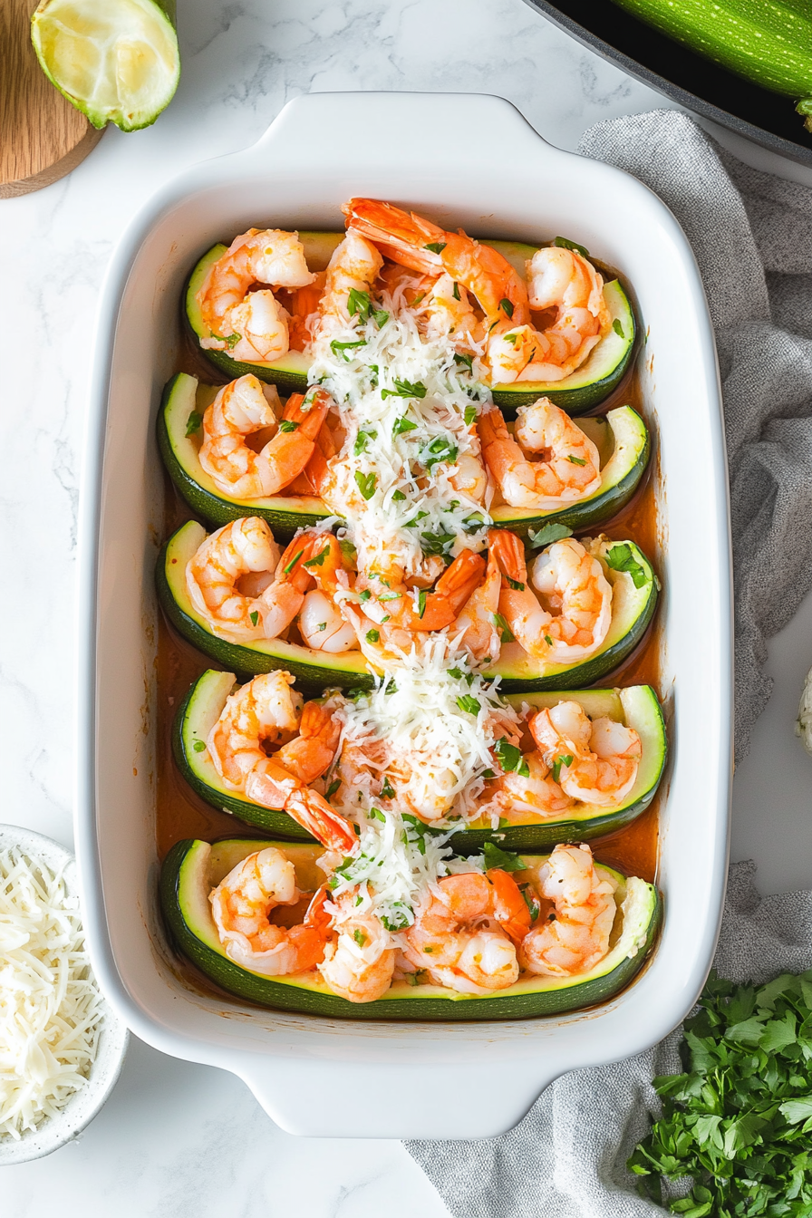
[[[762,147],[812,166],[812,134],[791,97],[768,93],[672,41],[611,0],[526,0],[589,50]]]

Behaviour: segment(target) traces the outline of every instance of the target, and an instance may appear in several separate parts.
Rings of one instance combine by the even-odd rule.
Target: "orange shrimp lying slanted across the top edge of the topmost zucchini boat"
[[[492,339],[530,322],[525,280],[492,246],[464,233],[447,233],[422,216],[377,199],[351,199],[342,211],[347,230],[373,241],[387,258],[422,274],[446,273],[471,292],[485,313],[485,333]]]

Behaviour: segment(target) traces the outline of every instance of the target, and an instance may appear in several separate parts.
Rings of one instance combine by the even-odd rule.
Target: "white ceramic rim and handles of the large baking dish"
[[[240,1046],[233,1035],[184,1034],[150,1018],[138,994],[128,988],[122,977],[107,929],[96,839],[95,766],[96,736],[103,726],[97,723],[96,716],[97,570],[111,364],[119,306],[130,269],[141,244],[162,216],[207,184],[233,178],[239,180],[241,168],[256,177],[257,166],[268,167],[271,158],[276,173],[289,178],[301,174],[304,184],[317,180],[317,153],[312,143],[302,138],[302,129],[317,133],[324,141],[326,155],[329,141],[335,141],[338,133],[353,130],[353,122],[360,116],[374,127],[377,124],[380,130],[385,130],[386,122],[391,121],[398,133],[396,140],[390,139],[388,146],[381,144],[380,153],[376,147],[375,166],[376,172],[380,167],[382,178],[387,173],[390,178],[399,175],[402,184],[419,179],[421,188],[432,180],[432,174],[448,178],[449,168],[442,149],[426,145],[420,132],[426,128],[427,121],[432,130],[460,130],[459,122],[465,118],[472,132],[485,129],[498,133],[499,156],[508,164],[516,158],[519,163],[522,157],[536,158],[550,174],[567,174],[588,183],[599,197],[605,197],[606,191],[620,192],[629,206],[656,227],[671,251],[690,313],[687,324],[690,325],[693,343],[691,373],[706,408],[702,426],[709,447],[705,456],[710,486],[704,542],[705,552],[711,555],[707,602],[713,635],[711,658],[706,660],[702,672],[710,706],[705,706],[702,714],[710,716],[711,726],[707,755],[702,759],[702,793],[709,808],[709,823],[693,878],[670,876],[673,895],[679,894],[682,907],[685,907],[689,895],[691,901],[690,922],[683,918],[679,934],[679,939],[684,940],[682,956],[674,938],[677,928],[672,927],[668,933],[666,914],[663,942],[668,940],[668,952],[661,944],[634,985],[597,1011],[575,1012],[554,1019],[453,1026],[453,1035],[447,1024],[382,1027],[360,1021],[310,1018],[306,1026],[306,1021],[280,1015],[276,1026],[281,1035],[275,1041]],[[391,135],[391,132],[387,134]],[[460,156],[463,161],[469,157],[469,172],[476,156],[480,157],[480,168],[487,163],[482,160],[485,152],[469,150],[461,151]],[[345,171],[345,179],[342,185],[348,195],[354,185],[351,171]],[[390,197],[398,194],[403,197],[408,191],[409,186],[393,190]],[[645,186],[621,171],[584,161],[545,144],[503,99],[455,94],[317,94],[296,99],[252,149],[196,166],[159,190],[141,208],[119,241],[100,298],[79,516],[77,853],[96,977],[112,1005],[141,1039],[163,1052],[220,1066],[239,1074],[265,1110],[290,1132],[318,1136],[482,1136],[510,1128],[558,1074],[576,1066],[599,1065],[639,1052],[666,1035],[690,1010],[712,960],[727,878],[733,705],[729,512],[718,370],[701,279],[676,219]],[[676,753],[678,756],[678,749]],[[672,831],[666,833],[663,857],[670,849],[667,838],[671,834]],[[691,885],[693,892],[689,893]],[[633,1018],[625,1017],[632,1011]],[[610,1029],[610,1034],[604,1034],[604,1029]],[[475,1061],[480,1061],[480,1066],[476,1078],[472,1078],[470,1067]],[[506,1063],[510,1068],[505,1068]],[[523,1065],[523,1078],[515,1069],[516,1063]],[[408,1105],[408,1112],[398,1113],[392,1119],[375,1114],[348,1125],[346,1114],[331,1117],[324,1106],[320,1106],[323,1111],[319,1114],[314,1114],[313,1105],[306,1100],[317,1094],[327,1072],[345,1083],[352,1078],[358,1094],[397,1094],[407,1079],[418,1080],[415,1089],[419,1091],[422,1077],[426,1093],[431,1089],[433,1099]],[[481,1107],[478,1101],[483,1088],[489,1095],[489,1111],[478,1123],[471,1124],[469,1116],[475,1107]],[[448,1089],[455,1089],[450,1116],[437,1102],[437,1096]]]

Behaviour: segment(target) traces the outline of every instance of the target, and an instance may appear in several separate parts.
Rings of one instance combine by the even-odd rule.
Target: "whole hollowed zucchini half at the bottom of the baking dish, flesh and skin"
[[[617,881],[618,912],[609,954],[588,973],[528,977],[495,995],[457,994],[439,985],[403,980],[394,982],[386,998],[375,1002],[348,1002],[331,994],[315,971],[264,977],[234,963],[220,944],[209,892],[248,854],[274,844],[296,866],[299,888],[307,892],[319,887],[324,876],[315,859],[323,848],[290,842],[240,838],[209,845],[189,839],[173,847],[161,872],[161,905],[178,949],[222,989],[261,1006],[352,1019],[521,1019],[560,1015],[606,1002],[627,985],[651,950],[662,916],[653,884],[635,877],[627,879],[599,865],[599,871]],[[527,871],[514,873],[520,883],[533,878],[544,856],[527,856],[525,861]]]

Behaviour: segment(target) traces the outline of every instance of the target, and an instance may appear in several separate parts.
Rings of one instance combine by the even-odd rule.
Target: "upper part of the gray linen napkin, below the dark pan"
[[[741,761],[772,692],[766,639],[812,585],[812,190],[743,164],[673,110],[598,123],[578,151],[667,203],[705,283],[730,475]]]

